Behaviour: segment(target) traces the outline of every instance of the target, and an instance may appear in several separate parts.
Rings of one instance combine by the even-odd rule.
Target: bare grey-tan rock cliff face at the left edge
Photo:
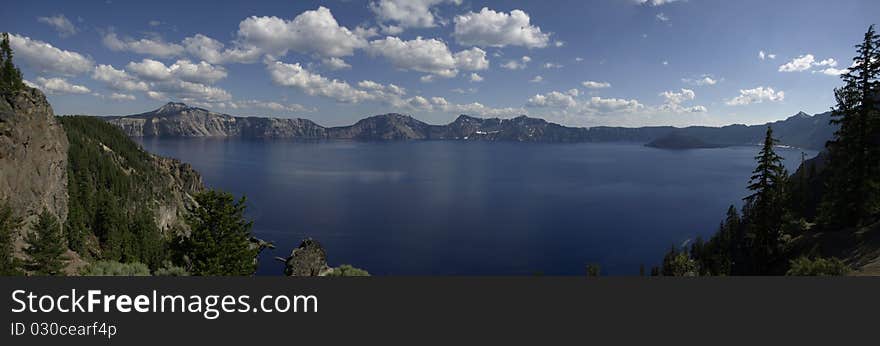
[[[0,95],[0,200],[25,225],[43,209],[67,219],[67,148],[64,129],[42,92],[26,88]]]

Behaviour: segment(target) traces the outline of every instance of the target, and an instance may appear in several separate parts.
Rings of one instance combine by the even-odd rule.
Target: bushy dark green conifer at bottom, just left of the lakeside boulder
[[[244,217],[245,198],[206,191],[195,196],[187,216],[191,232],[181,241],[194,275],[251,275],[259,247],[251,245],[253,223]]]

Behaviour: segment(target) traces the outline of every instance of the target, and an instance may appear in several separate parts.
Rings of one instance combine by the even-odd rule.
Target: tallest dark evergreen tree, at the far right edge
[[[855,226],[880,207],[880,35],[870,26],[844,86],[834,89],[833,124],[840,127],[827,144],[828,186],[821,221],[826,226]]]

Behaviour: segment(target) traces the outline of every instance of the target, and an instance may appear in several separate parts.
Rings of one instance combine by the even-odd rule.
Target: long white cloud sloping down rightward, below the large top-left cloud
[[[331,80],[309,72],[299,63],[286,64],[272,61],[267,62],[266,65],[275,84],[300,89],[307,95],[323,96],[344,103],[374,99],[370,93],[354,88],[345,81]]]

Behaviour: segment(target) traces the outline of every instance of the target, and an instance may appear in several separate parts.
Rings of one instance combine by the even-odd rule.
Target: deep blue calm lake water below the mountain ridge
[[[282,271],[305,237],[374,275],[637,274],[740,204],[757,147],[146,139],[248,198]],[[779,149],[789,170],[800,149]],[[807,151],[808,157],[815,155]]]

